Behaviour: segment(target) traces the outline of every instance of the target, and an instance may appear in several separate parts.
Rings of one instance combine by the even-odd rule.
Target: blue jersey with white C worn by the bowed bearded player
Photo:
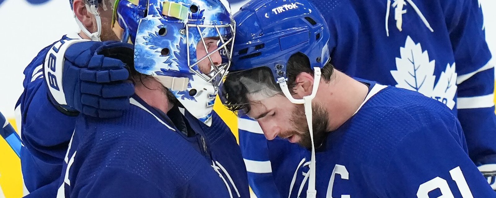
[[[460,123],[445,105],[366,83],[370,91],[363,106],[316,148],[318,198],[496,198],[468,157]],[[285,183],[279,191],[289,189],[284,197],[300,192],[305,197],[307,179],[301,172],[309,170],[310,151],[293,158],[298,157],[285,168],[294,174],[279,176]]]

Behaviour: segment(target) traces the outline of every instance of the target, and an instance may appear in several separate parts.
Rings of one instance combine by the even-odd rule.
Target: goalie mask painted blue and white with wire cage
[[[134,44],[136,71],[153,76],[210,126],[234,45],[227,0],[118,0],[113,21],[121,40]]]

